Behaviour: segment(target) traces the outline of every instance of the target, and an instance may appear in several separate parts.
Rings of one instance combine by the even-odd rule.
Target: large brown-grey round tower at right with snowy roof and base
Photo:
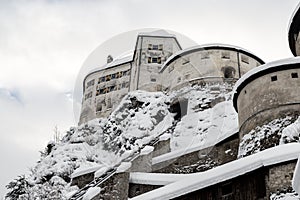
[[[300,113],[300,58],[271,62],[246,73],[235,85],[233,105],[240,147],[251,137],[265,145],[262,149],[278,145],[282,128]]]

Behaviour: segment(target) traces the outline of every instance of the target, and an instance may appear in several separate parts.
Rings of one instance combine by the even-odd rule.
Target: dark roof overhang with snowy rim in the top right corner
[[[294,34],[297,33],[297,31],[299,31],[299,29],[300,29],[299,22],[300,22],[300,3],[295,8],[295,10],[290,18],[289,25],[288,25],[289,45],[290,45],[290,49],[291,49],[292,53],[295,56],[297,56],[297,55],[296,55],[296,49],[295,49]]]

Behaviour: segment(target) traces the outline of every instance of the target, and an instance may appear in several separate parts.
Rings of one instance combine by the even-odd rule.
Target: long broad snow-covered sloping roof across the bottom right
[[[192,176],[182,175],[182,178],[178,179],[178,181],[136,196],[131,200],[175,198],[244,175],[264,166],[271,166],[286,161],[296,160],[299,154],[299,143],[290,143],[276,146],[259,153],[241,158],[239,160],[226,163],[205,172],[194,173],[192,174]],[[149,178],[151,177],[151,174],[140,174],[140,179],[145,181],[144,184],[148,184],[147,180],[144,178],[145,176]],[[181,175],[175,175],[174,179],[177,179],[177,176]],[[153,177],[157,178],[157,183],[159,183],[159,181],[164,181],[163,179],[166,178],[164,176],[158,175]],[[168,180],[170,179],[168,178]],[[131,176],[131,181],[138,182],[137,176]],[[153,179],[151,179],[151,181],[154,182]],[[142,184],[143,181],[140,181],[140,183]]]

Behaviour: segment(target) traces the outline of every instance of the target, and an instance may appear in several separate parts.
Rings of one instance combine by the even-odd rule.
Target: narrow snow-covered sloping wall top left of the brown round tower
[[[217,140],[207,140],[206,143],[201,144],[201,145],[193,145],[193,146],[190,146],[187,149],[179,149],[179,150],[171,151],[170,153],[166,153],[166,154],[157,156],[157,157],[152,159],[152,164],[165,162],[167,160],[178,158],[180,156],[183,156],[183,155],[195,152],[195,151],[199,151],[201,149],[211,147],[211,146],[225,140],[226,138],[229,138],[230,136],[236,134],[237,132],[238,132],[238,128],[235,128],[231,131],[228,131],[225,134],[222,134],[221,137],[217,138]]]

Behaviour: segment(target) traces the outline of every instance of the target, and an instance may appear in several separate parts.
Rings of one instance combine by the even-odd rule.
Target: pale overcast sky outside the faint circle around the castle
[[[241,46],[269,62],[292,56],[287,28],[298,3],[0,0],[0,195],[35,165],[56,125],[63,132],[77,124],[74,85],[103,42],[134,29],[164,28],[198,44]]]

